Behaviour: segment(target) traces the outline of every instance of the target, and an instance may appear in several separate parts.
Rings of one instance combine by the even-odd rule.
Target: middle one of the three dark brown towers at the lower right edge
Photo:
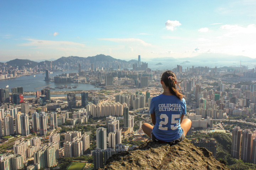
[[[241,159],[247,163],[251,162],[252,137],[250,129],[245,129],[242,133]]]

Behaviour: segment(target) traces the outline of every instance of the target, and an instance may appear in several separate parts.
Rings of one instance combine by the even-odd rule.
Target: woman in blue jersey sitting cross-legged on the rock
[[[181,83],[181,82],[179,82]],[[178,85],[176,75],[171,71],[162,74],[161,84],[164,92],[153,97],[150,102],[152,123],[142,125],[142,130],[153,142],[178,143],[184,140],[191,128],[191,120],[183,119],[186,114],[186,101]]]

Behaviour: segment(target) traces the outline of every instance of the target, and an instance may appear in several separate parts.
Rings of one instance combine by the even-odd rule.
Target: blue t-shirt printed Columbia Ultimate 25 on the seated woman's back
[[[152,130],[160,141],[171,142],[181,137],[181,114],[186,114],[186,101],[175,95],[159,95],[153,97],[150,103],[150,113],[155,113],[156,124]]]

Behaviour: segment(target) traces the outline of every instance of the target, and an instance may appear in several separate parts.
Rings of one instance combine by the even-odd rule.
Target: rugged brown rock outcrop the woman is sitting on
[[[112,155],[100,170],[229,170],[206,148],[198,148],[187,139],[170,146],[146,142],[134,151]]]

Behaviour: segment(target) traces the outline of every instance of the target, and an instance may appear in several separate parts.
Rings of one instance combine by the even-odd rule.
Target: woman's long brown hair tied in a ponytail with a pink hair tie
[[[168,70],[162,74],[161,80],[164,81],[164,84],[169,87],[170,92],[177,96],[180,100],[184,97],[181,93],[181,86],[179,85],[181,82],[177,82],[176,75],[174,72]],[[176,89],[176,85],[180,88],[180,90]]]

